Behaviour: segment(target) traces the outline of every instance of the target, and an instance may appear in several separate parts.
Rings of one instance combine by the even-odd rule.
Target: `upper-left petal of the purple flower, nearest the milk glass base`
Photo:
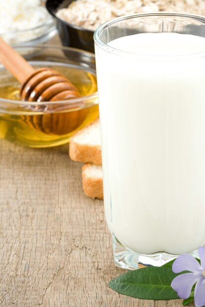
[[[201,265],[199,262],[189,254],[181,254],[172,265],[174,273],[180,273],[182,271],[196,272],[200,269]]]

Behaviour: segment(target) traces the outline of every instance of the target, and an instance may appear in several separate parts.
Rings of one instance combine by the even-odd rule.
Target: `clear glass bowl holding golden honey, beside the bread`
[[[19,100],[20,83],[1,65],[0,137],[27,147],[69,142],[76,131],[98,117],[94,54],[49,45],[15,49],[34,68],[49,67],[69,78],[82,97],[59,102],[23,102]]]

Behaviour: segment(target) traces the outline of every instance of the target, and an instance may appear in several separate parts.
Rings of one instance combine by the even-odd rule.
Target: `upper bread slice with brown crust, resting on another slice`
[[[69,155],[74,161],[102,164],[99,119],[70,138]]]

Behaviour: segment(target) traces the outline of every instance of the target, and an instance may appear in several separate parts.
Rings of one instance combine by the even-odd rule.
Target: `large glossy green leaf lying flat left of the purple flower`
[[[109,282],[110,288],[118,293],[146,300],[177,299],[171,282],[177,276],[170,268],[146,267],[130,271]]]

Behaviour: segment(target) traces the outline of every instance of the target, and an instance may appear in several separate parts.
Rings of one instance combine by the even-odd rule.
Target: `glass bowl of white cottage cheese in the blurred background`
[[[10,45],[42,44],[57,32],[42,0],[0,1],[0,36]]]

